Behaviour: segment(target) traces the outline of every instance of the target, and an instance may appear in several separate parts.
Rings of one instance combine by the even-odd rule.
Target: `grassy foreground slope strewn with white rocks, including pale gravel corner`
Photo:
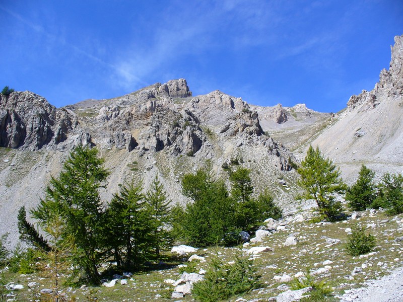
[[[316,280],[328,282],[333,300],[398,301],[403,278],[403,215],[367,210],[350,213],[347,220],[334,223],[311,223],[310,217],[309,211],[301,211],[278,221],[267,219],[262,230],[240,248],[187,247],[182,251],[183,247],[177,247],[172,251],[178,254],[176,260],[167,258],[165,264],[156,264],[149,271],[109,276],[98,288],[62,286],[62,290],[76,300],[94,295],[106,301],[190,301],[192,283],[203,279],[212,257],[231,263],[241,253],[254,260],[263,285],[232,301],[291,301],[290,294],[295,296],[295,292],[290,291],[289,282],[303,276],[306,269]],[[376,237],[377,246],[369,254],[352,257],[346,253],[345,243],[356,224]],[[6,275],[14,284],[9,297],[15,300],[33,301],[41,290],[52,289],[46,268],[34,274]]]

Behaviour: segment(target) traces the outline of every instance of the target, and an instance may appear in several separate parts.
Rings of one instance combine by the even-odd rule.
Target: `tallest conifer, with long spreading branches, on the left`
[[[98,264],[104,235],[104,208],[99,189],[105,188],[109,172],[102,167],[97,149],[77,146],[56,179],[50,180],[46,197],[32,210],[39,224],[47,225],[55,213],[65,224],[65,235],[75,247],[71,261],[81,282],[99,283]]]

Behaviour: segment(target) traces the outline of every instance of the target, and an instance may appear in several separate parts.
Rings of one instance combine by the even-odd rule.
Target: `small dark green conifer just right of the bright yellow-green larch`
[[[348,188],[346,200],[353,210],[362,211],[370,207],[376,198],[375,173],[361,166],[358,179],[354,185]]]

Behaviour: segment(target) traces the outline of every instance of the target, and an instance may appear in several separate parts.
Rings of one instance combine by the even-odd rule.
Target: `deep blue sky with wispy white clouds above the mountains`
[[[371,90],[403,2],[0,1],[0,86],[61,107],[185,78],[255,105],[337,112]]]

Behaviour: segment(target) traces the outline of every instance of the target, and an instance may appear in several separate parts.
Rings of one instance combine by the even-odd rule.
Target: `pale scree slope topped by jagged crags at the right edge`
[[[394,42],[389,70],[380,72],[374,89],[352,96],[346,111],[309,141],[342,166],[347,181],[356,177],[360,161],[378,174],[401,172],[403,36],[396,36]],[[304,150],[300,151],[304,154]]]

